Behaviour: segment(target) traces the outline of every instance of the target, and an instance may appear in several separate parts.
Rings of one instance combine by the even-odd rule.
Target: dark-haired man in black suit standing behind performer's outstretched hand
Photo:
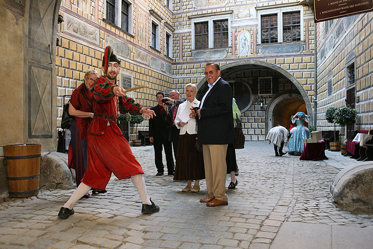
[[[170,123],[167,121],[168,108],[167,105],[162,103],[165,94],[163,92],[157,93],[158,105],[150,108],[156,114],[154,119],[149,120],[149,140],[154,146],[155,165],[157,167],[156,176],[164,174],[164,165],[162,161],[162,146],[165,148],[167,173],[174,175],[175,164],[172,157],[172,144],[169,141]]]

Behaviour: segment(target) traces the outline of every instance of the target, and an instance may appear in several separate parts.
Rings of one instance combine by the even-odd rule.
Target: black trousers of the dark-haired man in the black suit
[[[172,145],[171,142],[167,141],[166,139],[153,141],[154,146],[154,159],[155,165],[157,167],[158,172],[164,172],[164,165],[162,161],[162,146],[165,148],[166,154],[166,161],[167,161],[167,173],[171,174],[174,173],[175,164],[174,158],[172,156]]]

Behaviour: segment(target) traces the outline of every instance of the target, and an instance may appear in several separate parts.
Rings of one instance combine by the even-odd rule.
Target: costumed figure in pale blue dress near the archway
[[[297,112],[294,116],[291,116],[291,122],[296,126],[290,130],[290,138],[288,142],[289,155],[300,155],[303,152],[304,143],[303,139],[311,138],[311,134],[304,122],[309,122],[310,116],[305,115],[302,112]]]

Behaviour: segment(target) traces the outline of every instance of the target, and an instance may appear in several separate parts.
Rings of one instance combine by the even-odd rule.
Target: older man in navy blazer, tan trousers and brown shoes
[[[197,110],[198,141],[202,144],[203,161],[208,196],[200,199],[206,206],[228,205],[225,194],[227,163],[225,160],[229,143],[235,142],[232,116],[232,89],[220,78],[220,68],[209,63],[204,75],[209,89]],[[193,116],[193,115],[191,115]]]

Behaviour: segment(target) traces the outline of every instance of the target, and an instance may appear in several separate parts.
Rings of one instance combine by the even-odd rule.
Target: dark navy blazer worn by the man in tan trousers
[[[229,144],[235,142],[232,99],[230,85],[220,78],[203,102],[201,118],[197,118],[200,143]]]

